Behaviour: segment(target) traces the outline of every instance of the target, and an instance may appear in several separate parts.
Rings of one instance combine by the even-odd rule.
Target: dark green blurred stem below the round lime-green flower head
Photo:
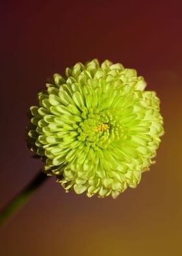
[[[6,206],[0,211],[0,227],[3,226],[6,221],[16,214],[31,198],[36,189],[47,180],[47,175],[44,172],[39,172],[34,179],[25,187],[18,195],[14,197]]]

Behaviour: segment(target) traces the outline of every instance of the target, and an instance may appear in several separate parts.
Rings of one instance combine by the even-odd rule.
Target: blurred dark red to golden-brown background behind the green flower
[[[38,172],[25,143],[38,89],[76,62],[135,68],[161,99],[156,165],[118,199],[64,193],[49,178],[0,231],[2,256],[182,255],[181,1],[1,1],[0,207]]]

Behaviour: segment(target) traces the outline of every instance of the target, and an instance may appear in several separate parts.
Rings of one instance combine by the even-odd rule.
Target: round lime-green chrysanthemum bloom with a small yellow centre
[[[54,74],[31,107],[28,146],[69,191],[116,198],[149,170],[163,135],[159,98],[135,69],[106,60]]]

